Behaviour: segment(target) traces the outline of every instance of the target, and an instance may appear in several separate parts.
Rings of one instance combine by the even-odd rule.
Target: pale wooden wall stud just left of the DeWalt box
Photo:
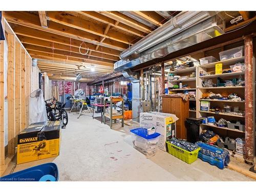
[[[15,152],[15,36],[8,34],[7,38],[8,156],[12,157]]]

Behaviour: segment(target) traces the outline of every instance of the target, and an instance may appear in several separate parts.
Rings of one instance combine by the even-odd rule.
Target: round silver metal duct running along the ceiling
[[[172,19],[168,20],[164,25],[123,51],[120,54],[120,58],[126,58],[134,53],[139,54],[217,13],[218,12],[216,11],[182,11]]]

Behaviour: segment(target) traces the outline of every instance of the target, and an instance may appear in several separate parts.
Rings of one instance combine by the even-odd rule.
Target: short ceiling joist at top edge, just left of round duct
[[[155,15],[153,15],[153,12],[151,11],[132,11],[135,15],[147,20],[148,22],[156,25],[156,26],[162,26],[161,22],[164,18],[161,18],[160,15],[158,15],[155,12]]]

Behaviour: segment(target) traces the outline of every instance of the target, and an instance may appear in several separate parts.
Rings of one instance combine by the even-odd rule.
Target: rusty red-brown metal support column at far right
[[[244,37],[245,44],[245,161],[253,163],[254,156],[254,110],[253,110],[253,47],[252,37]]]

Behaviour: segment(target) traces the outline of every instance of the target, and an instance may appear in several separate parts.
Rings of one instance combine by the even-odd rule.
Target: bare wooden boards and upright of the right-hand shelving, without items
[[[217,83],[217,78],[220,77],[222,79],[231,79],[231,78],[238,78],[240,75],[244,78],[244,72],[232,72],[232,73],[224,73],[224,74],[215,74],[215,65],[217,63],[222,63],[222,69],[224,70],[230,70],[230,66],[234,65],[237,62],[244,62],[244,57],[238,57],[238,58],[232,58],[232,59],[227,59],[224,61],[217,61],[217,62],[212,62],[208,63],[202,66],[198,67],[197,70],[197,117],[207,117],[207,116],[214,116],[216,121],[218,121],[220,118],[224,118],[226,120],[238,120],[240,119],[241,121],[244,121],[244,116],[241,115],[233,115],[233,114],[228,114],[228,113],[215,113],[215,112],[210,112],[210,111],[201,111],[200,110],[200,102],[201,101],[209,101],[210,106],[220,106],[223,109],[224,105],[230,105],[230,106],[239,106],[239,109],[241,111],[244,111],[244,101],[230,101],[230,100],[218,100],[218,99],[201,99],[202,94],[206,92],[213,92],[213,93],[223,93],[226,92],[228,94],[231,93],[237,93],[239,97],[242,99],[245,97],[244,93],[244,86],[236,86],[236,87],[210,87],[210,88],[203,88],[202,87],[202,81],[212,79],[214,83]],[[209,73],[211,75],[207,76],[200,76],[200,72],[203,74]],[[232,131],[232,132],[238,132],[240,134],[243,134],[243,131],[236,130],[236,129],[228,129],[227,127],[218,127],[215,125],[209,125],[209,124],[201,124],[200,125],[200,130],[206,129],[206,127],[214,127],[215,129],[219,130],[227,130],[227,131]],[[201,132],[200,131],[200,132]]]

